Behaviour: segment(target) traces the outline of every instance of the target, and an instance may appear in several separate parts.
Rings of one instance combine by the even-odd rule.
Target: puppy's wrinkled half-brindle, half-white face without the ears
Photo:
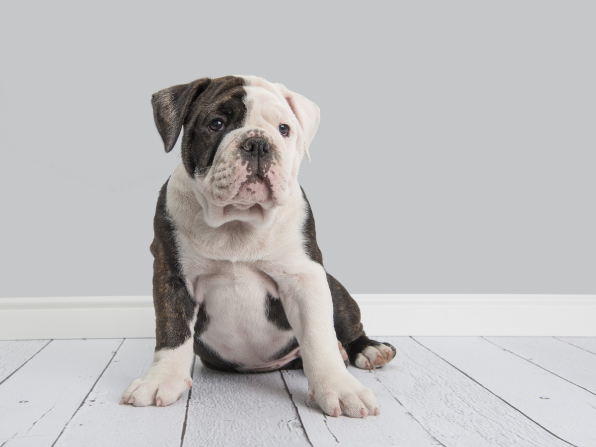
[[[186,125],[185,160],[200,160],[192,166],[195,179],[221,206],[283,204],[302,158],[296,116],[283,96],[263,86],[222,90],[211,104],[199,97]]]

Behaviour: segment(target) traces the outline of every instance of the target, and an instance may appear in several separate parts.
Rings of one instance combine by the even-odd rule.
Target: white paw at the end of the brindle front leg
[[[150,370],[141,378],[132,381],[120,399],[120,405],[166,406],[182,397],[182,393],[193,386],[193,379],[179,375],[163,374]]]

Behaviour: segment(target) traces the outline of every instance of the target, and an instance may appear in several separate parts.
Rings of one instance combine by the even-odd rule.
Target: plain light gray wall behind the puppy
[[[150,294],[151,94],[228,74],[321,107],[300,182],[353,293],[596,293],[593,2],[88,3],[1,7],[0,296]]]

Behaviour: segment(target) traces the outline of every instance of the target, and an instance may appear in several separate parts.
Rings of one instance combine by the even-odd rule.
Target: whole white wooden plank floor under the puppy
[[[392,364],[350,371],[381,415],[327,417],[302,371],[195,362],[171,406],[118,405],[153,339],[0,342],[0,447],[596,446],[596,338],[379,337]]]

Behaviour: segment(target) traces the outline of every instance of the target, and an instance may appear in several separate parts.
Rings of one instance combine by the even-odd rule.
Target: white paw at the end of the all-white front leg
[[[308,390],[319,407],[330,416],[346,415],[362,418],[379,414],[379,405],[373,392],[349,373],[319,381]]]

